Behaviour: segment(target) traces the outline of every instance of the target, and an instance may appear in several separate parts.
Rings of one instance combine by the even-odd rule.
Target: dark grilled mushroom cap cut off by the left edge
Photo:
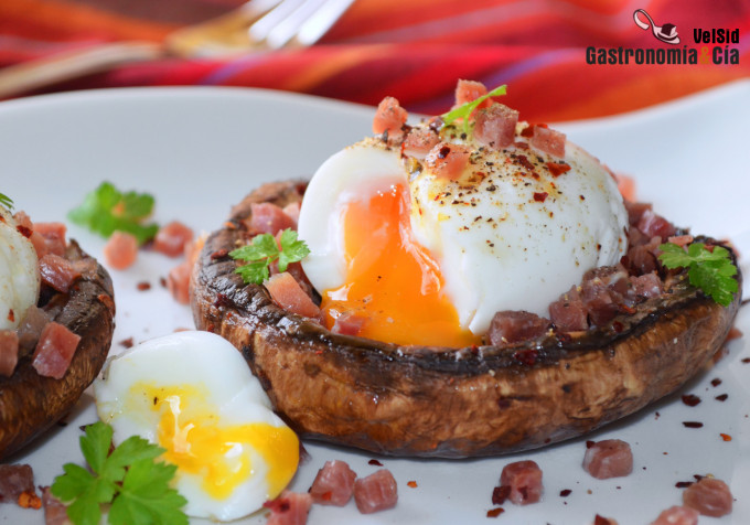
[[[93,257],[71,240],[65,258],[77,262],[81,278],[68,293],[42,287],[39,307],[52,321],[81,335],[61,379],[44,377],[32,356],[19,358],[10,377],[0,376],[0,460],[19,451],[71,411],[101,369],[115,330],[113,283]]]

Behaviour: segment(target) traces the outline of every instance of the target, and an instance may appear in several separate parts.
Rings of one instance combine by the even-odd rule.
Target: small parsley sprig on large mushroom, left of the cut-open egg
[[[247,265],[235,270],[235,274],[243,277],[245,283],[262,285],[270,276],[270,266],[274,261],[278,260],[279,271],[287,271],[291,262],[299,262],[309,254],[310,248],[304,240],[299,240],[297,232],[287,228],[281,232],[278,244],[271,234],[256,235],[250,244],[229,251],[229,257],[247,261]]]

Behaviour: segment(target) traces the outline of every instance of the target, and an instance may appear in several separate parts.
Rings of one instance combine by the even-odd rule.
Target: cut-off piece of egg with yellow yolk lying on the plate
[[[271,411],[242,354],[208,332],[178,332],[109,360],[94,384],[119,444],[138,435],[176,465],[190,516],[232,521],[276,497],[297,471],[297,435]]]

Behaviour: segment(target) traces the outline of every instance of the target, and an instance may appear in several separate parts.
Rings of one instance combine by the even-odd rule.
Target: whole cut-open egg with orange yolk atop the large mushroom
[[[587,270],[620,260],[628,215],[610,172],[570,142],[564,158],[529,147],[524,126],[502,149],[442,133],[468,156],[456,176],[385,137],[320,167],[299,236],[329,328],[355,314],[358,335],[379,341],[480,344],[495,312],[547,317]]]

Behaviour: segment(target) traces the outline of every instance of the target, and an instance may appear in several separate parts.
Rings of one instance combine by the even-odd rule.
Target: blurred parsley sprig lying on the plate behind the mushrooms
[[[140,244],[153,238],[159,231],[156,224],[143,224],[153,211],[154,199],[148,193],[120,192],[114,184],[103,182],[71,210],[68,218],[92,232],[109,237],[115,231],[136,236]]]

